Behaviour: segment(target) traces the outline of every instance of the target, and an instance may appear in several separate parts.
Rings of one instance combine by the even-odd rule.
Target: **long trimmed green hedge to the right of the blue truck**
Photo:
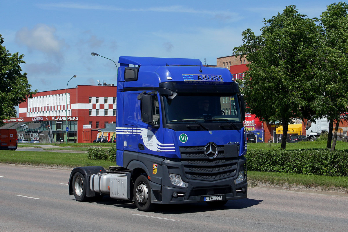
[[[248,149],[245,157],[251,171],[348,176],[348,153],[344,151]]]

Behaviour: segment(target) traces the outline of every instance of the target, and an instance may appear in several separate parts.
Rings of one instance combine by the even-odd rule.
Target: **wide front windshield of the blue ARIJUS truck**
[[[164,97],[164,109],[167,124],[242,122],[237,95],[188,96],[178,94],[174,99]]]

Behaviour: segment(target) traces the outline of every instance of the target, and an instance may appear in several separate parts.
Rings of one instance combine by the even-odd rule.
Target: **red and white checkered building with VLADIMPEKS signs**
[[[17,129],[18,138],[29,141],[65,142],[68,134],[68,142],[90,143],[98,130],[116,122],[116,90],[116,86],[78,85],[69,88],[68,95],[66,89],[39,92],[19,104],[19,118],[5,120],[2,128]]]

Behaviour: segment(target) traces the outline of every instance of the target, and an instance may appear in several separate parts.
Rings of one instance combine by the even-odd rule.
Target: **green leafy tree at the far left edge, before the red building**
[[[16,116],[15,106],[25,102],[37,90],[31,91],[26,73],[21,73],[20,64],[24,55],[10,54],[6,47],[2,46],[3,38],[0,34],[0,126],[4,119]]]

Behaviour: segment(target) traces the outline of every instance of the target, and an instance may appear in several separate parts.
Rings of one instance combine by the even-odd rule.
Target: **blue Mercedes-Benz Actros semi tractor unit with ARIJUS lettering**
[[[247,197],[244,99],[225,68],[199,59],[119,58],[116,166],[78,167],[69,194],[222,206]]]

